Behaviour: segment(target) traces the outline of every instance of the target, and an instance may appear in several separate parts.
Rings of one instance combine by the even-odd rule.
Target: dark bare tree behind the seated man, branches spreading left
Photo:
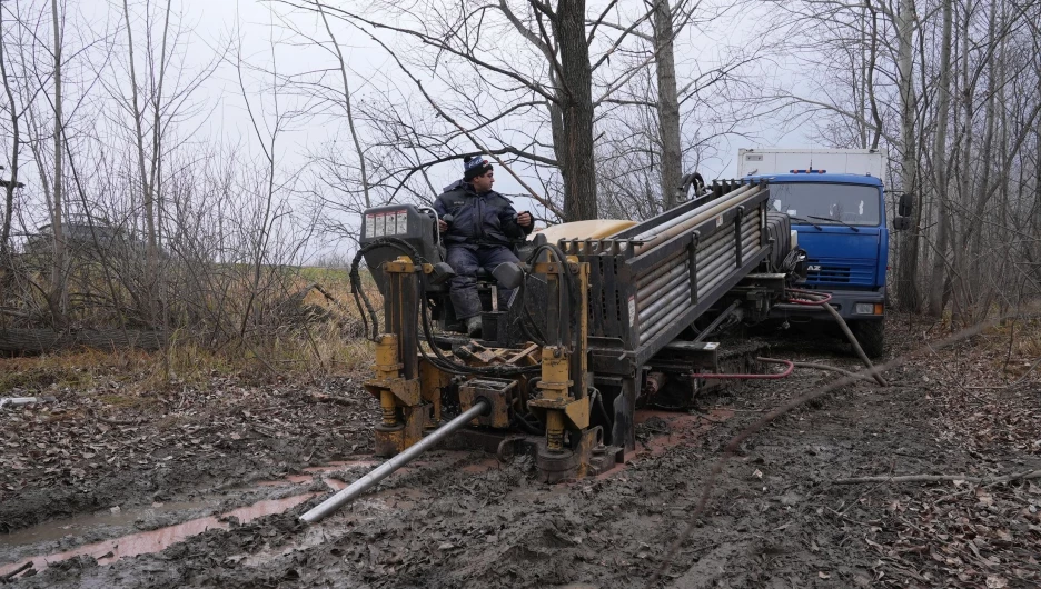
[[[306,0],[282,3],[315,11],[318,4]],[[413,12],[413,8],[417,12]],[[422,7],[386,7],[381,10],[380,17],[385,18],[366,17],[327,4],[323,7],[324,13],[347,19],[366,30],[396,36],[398,40],[413,40],[420,48],[430,49],[427,56],[410,56],[409,66],[426,69],[457,97],[458,103],[449,106],[438,100],[437,108],[443,116],[460,121],[460,138],[476,139],[472,131],[478,129],[482,134],[489,133],[492,129],[488,126],[500,121],[505,114],[524,109],[532,102],[541,103],[545,110],[539,124],[531,127],[533,131],[510,131],[513,138],[524,137],[525,144],[518,146],[517,141],[507,138],[502,141],[502,147],[510,146],[513,156],[531,162],[536,169],[548,166],[558,171],[565,217],[596,217],[594,117],[604,97],[594,97],[594,72],[606,68],[608,57],[625,42],[629,31],[604,40],[598,57],[594,58],[591,48],[602,47],[597,44],[601,34],[597,27],[587,27],[585,1],[562,1],[556,6],[541,0],[523,3],[500,0],[492,6],[469,1],[462,4],[429,2]],[[420,10],[422,13],[418,12]],[[410,23],[415,26],[409,27]],[[506,49],[506,39],[489,32],[503,32],[507,28],[517,33],[508,41],[514,44],[510,49]],[[397,47],[396,43],[395,53],[399,53]],[[518,53],[524,58],[515,59]],[[465,76],[442,73],[448,61],[460,64],[453,71],[473,71],[477,79],[470,83],[464,80]],[[399,63],[405,66],[403,60]],[[469,64],[469,70],[462,64]],[[450,64],[447,67],[452,68]],[[533,71],[532,67],[541,71]],[[608,79],[603,86],[603,92],[611,94],[619,83]],[[493,100],[497,102],[494,111],[486,112],[473,101],[475,87],[495,90],[485,94],[494,96]],[[551,141],[538,137],[542,129],[548,130]],[[500,149],[499,144],[477,142],[492,152]],[[539,153],[547,143],[552,144],[552,157]]]

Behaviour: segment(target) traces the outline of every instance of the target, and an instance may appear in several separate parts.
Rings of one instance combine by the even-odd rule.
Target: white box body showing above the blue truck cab
[[[885,182],[881,149],[759,148],[737,151],[737,177],[810,172],[868,174]]]

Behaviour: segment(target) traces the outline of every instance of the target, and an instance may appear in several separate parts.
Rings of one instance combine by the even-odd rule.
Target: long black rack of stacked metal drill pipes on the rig
[[[591,368],[598,388],[617,390],[613,443],[635,448],[647,362],[750,274],[780,267],[790,222],[769,198],[766,182],[714,182],[706,196],[607,239],[561,241],[589,264]]]

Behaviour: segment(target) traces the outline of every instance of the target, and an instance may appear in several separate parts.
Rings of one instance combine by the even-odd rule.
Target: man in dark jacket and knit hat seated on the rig
[[[492,164],[483,157],[464,158],[463,180],[437,197],[438,228],[448,249],[448,264],[456,271],[449,282],[449,298],[456,318],[466,323],[469,336],[480,332],[480,299],[477,269],[492,271],[505,262],[516,262],[513,240],[532,232],[532,214],[517,214],[509,199],[492,190]],[[447,220],[446,220],[447,217]],[[506,310],[512,290],[500,289],[499,309]],[[505,305],[504,305],[505,302]]]

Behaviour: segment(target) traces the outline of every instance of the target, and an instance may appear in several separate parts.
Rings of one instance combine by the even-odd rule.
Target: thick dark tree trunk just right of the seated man
[[[564,213],[568,221],[596,219],[593,161],[593,69],[585,33],[585,0],[561,0],[556,14],[563,86]]]

